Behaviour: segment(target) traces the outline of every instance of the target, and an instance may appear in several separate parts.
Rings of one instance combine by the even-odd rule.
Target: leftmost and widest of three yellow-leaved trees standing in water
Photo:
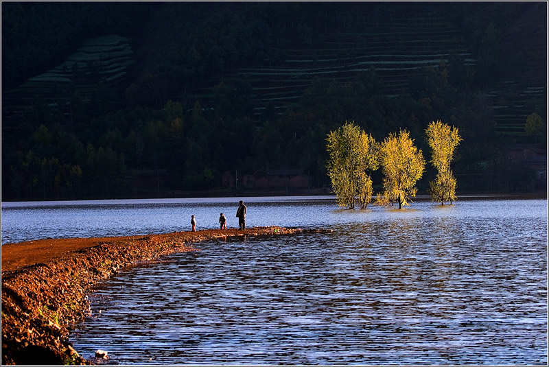
[[[379,145],[354,123],[345,122],[327,137],[327,163],[338,206],[361,209],[371,201],[371,172],[379,167]]]

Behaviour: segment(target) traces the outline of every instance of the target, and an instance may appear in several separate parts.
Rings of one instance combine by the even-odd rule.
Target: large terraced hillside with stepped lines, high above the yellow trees
[[[256,116],[267,104],[283,113],[316,77],[344,83],[375,68],[384,82],[384,94],[394,96],[408,92],[413,71],[447,62],[451,54],[461,56],[465,64],[475,64],[461,32],[435,14],[394,14],[384,23],[368,22],[327,34],[321,43],[271,47],[266,54],[261,67],[237,69],[224,78],[249,82]],[[207,105],[215,82],[205,80],[191,98]]]

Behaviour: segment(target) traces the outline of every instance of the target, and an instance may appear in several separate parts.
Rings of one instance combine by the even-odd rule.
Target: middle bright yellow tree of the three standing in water
[[[401,209],[402,205],[409,205],[410,198],[416,196],[415,185],[425,171],[425,158],[406,130],[400,130],[398,137],[390,133],[383,141],[380,152],[384,191],[381,197],[377,197],[378,204],[398,202]]]

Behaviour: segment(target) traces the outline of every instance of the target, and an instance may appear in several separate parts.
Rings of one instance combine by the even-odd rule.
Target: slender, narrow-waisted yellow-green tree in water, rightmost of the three
[[[456,178],[450,163],[462,139],[457,128],[450,128],[440,120],[432,121],[425,129],[425,135],[432,150],[431,163],[437,170],[436,179],[430,182],[431,199],[443,205],[445,202],[452,204],[456,201]]]

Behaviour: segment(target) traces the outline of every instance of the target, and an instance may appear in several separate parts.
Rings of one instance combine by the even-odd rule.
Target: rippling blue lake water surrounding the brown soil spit
[[[250,226],[329,234],[194,244],[124,268],[73,325],[107,364],[547,363],[547,201],[340,210],[243,198]],[[7,205],[6,205],[7,204]],[[3,203],[2,243],[237,226],[237,199]]]

